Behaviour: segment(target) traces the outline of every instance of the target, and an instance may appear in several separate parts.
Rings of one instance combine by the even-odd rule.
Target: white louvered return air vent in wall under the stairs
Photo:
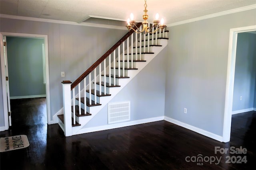
[[[130,120],[130,102],[108,103],[108,124]]]

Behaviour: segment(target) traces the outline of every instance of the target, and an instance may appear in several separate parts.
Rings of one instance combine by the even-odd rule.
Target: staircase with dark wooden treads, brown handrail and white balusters
[[[58,124],[64,135],[85,133],[84,125],[166,47],[167,40],[166,30],[154,34],[130,30],[76,81],[63,81],[64,114],[58,115]]]

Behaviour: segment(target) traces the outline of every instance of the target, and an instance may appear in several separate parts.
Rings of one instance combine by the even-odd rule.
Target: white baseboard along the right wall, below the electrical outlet
[[[186,123],[183,123],[183,122],[181,122],[181,121],[172,119],[172,118],[167,117],[167,116],[164,116],[164,120],[165,120],[165,121],[168,121],[168,122],[170,122],[170,123],[173,123],[173,124],[175,124],[175,125],[184,127],[184,128],[186,128],[186,129],[189,129],[189,130],[191,130],[191,131],[194,131],[194,132],[196,132],[196,133],[199,133],[199,134],[201,134],[201,135],[204,135],[204,136],[206,136],[206,137],[210,137],[210,138],[212,138],[212,139],[214,139],[214,140],[217,140],[217,141],[222,142],[222,136],[220,136],[220,135],[216,135],[216,134],[214,134],[214,133],[205,131],[205,130],[200,129],[200,128],[198,128],[198,127],[194,127],[194,126],[192,126],[192,125],[188,125],[188,124],[186,124]]]

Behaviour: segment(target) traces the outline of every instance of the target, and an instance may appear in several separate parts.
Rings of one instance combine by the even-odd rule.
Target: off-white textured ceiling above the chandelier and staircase
[[[147,0],[149,19],[156,13],[164,23],[198,18],[256,4],[256,0]],[[0,14],[81,22],[93,16],[142,21],[144,0],[0,0]]]

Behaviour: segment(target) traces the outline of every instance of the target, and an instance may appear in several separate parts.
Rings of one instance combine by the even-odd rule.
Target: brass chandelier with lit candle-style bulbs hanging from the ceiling
[[[142,32],[145,32],[145,33],[155,33],[156,31],[158,31],[158,29],[161,29],[161,32],[163,31],[163,29],[166,27],[166,25],[164,25],[164,19],[161,20],[161,22],[158,20],[159,18],[159,14],[156,14],[156,20],[153,21],[154,25],[152,25],[152,27],[150,28],[148,26],[148,10],[147,10],[147,0],[145,0],[145,4],[144,4],[144,15],[142,16],[143,18],[143,22],[142,22],[142,29],[140,30],[136,25],[135,25],[135,21],[133,20],[134,16],[133,14],[130,15],[130,18],[128,18],[127,20],[127,25],[126,27],[128,28],[128,30],[130,31],[130,29],[134,30],[136,33],[142,33]],[[161,23],[159,25],[159,23]],[[135,27],[137,28],[138,31],[136,31],[135,29],[133,29],[133,26],[135,25]],[[153,32],[150,32],[152,31],[152,28],[156,28]]]

